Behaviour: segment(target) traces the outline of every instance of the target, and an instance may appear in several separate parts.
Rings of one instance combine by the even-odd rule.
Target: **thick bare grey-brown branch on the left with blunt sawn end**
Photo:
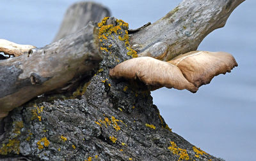
[[[0,60],[0,118],[37,95],[90,78],[100,60],[98,30],[92,24],[44,48]]]

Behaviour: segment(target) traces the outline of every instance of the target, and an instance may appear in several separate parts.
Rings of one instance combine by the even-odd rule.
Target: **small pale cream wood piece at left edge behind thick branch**
[[[19,45],[6,39],[0,39],[0,52],[4,52],[6,55],[18,57],[24,53],[28,53],[32,48],[36,47],[32,45]]]

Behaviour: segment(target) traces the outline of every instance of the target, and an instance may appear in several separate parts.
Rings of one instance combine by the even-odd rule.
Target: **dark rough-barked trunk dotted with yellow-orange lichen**
[[[184,1],[182,5],[189,2]],[[230,6],[234,4],[233,1],[225,2]],[[223,4],[222,1],[218,3]],[[204,8],[204,3],[200,6]],[[215,7],[223,10],[221,5]],[[189,10],[185,13],[195,11]],[[208,10],[196,13],[200,17]],[[198,23],[204,24],[204,21]],[[107,26],[110,24],[112,26]],[[172,132],[152,104],[147,87],[140,81],[109,77],[110,68],[136,57],[136,52],[129,47],[127,24],[109,18],[99,25],[103,60],[97,73],[89,82],[81,82],[72,97],[68,94],[41,95],[14,109],[3,120],[4,134],[0,137],[3,159],[0,160],[221,160]],[[146,29],[138,34],[147,34]],[[136,33],[132,43],[136,42],[135,36]],[[174,39],[179,46],[182,39]],[[67,46],[59,49],[65,48]]]

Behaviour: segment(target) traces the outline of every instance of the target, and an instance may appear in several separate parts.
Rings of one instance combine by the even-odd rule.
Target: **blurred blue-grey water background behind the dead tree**
[[[1,0],[0,38],[45,46],[58,32],[68,6],[75,0]],[[155,22],[178,0],[103,1],[111,15],[130,28]],[[152,92],[154,104],[173,132],[202,150],[225,160],[255,160],[256,152],[256,1],[233,11],[225,27],[202,41],[198,50],[232,53],[239,64],[200,87],[196,94],[161,88]],[[214,6],[213,6],[214,7]]]

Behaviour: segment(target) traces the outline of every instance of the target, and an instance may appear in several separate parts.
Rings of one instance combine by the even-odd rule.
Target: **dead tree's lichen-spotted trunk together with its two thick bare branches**
[[[5,102],[5,111],[13,108],[7,105],[12,101],[19,106],[17,102],[32,98],[29,94],[35,97],[53,90],[51,95],[41,95],[15,108],[3,119],[1,157],[10,160],[221,160],[173,133],[152,104],[145,84],[113,79],[109,69],[136,57],[136,51],[138,56],[148,54],[170,60],[196,50],[202,39],[223,26],[228,15],[242,2],[184,0],[155,24],[132,32],[128,32],[128,25],[122,20],[106,18],[98,24],[99,29],[96,24],[88,24],[56,43],[31,50],[31,55],[0,60],[0,102],[1,106]],[[189,25],[184,24],[186,20]],[[13,85],[16,87],[12,88]],[[54,94],[67,90],[72,97]]]

